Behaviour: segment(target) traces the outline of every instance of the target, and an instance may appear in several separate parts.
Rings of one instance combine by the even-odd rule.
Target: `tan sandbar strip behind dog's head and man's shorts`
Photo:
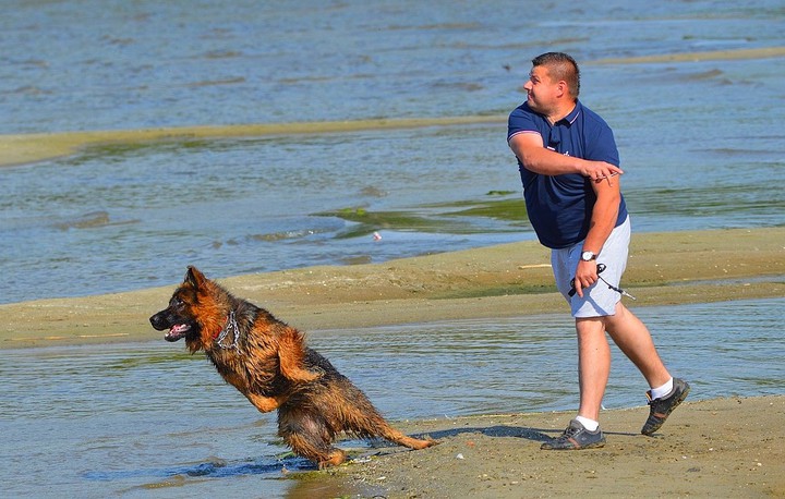
[[[208,268],[201,269],[210,277]],[[148,317],[170,287],[0,305],[0,349],[159,341]],[[567,314],[547,249],[524,241],[357,266],[218,280],[305,332],[473,318]],[[630,307],[785,296],[785,228],[635,234]]]

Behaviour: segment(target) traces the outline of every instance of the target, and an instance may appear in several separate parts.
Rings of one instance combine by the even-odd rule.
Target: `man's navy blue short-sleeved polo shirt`
[[[619,166],[618,149],[613,131],[599,114],[576,102],[567,117],[554,123],[522,104],[509,115],[507,142],[519,133],[538,133],[543,145],[563,155]],[[563,248],[583,241],[589,233],[592,208],[596,195],[591,180],[579,173],[541,175],[529,171],[518,160],[523,197],[529,221],[540,243]],[[627,219],[627,206],[621,197],[618,227]]]

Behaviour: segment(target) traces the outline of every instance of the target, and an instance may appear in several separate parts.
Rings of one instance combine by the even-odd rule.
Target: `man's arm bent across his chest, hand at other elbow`
[[[546,149],[536,132],[512,135],[509,146],[527,170],[542,175],[578,173],[595,182],[607,179],[611,183],[612,177],[624,173],[620,168],[605,161],[589,161]]]

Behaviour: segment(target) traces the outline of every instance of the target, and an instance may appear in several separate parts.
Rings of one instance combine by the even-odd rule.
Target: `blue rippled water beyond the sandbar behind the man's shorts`
[[[532,239],[504,117],[573,53],[637,231],[785,223],[781,59],[602,64],[785,45],[747,4],[9,0],[0,133],[461,115],[488,124],[95,147],[0,168],[0,303],[383,261]],[[470,208],[490,211],[466,212]],[[358,223],[357,214],[367,214]],[[373,242],[378,231],[382,241]]]

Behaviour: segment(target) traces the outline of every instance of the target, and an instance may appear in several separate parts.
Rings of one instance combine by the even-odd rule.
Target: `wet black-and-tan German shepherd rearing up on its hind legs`
[[[165,339],[203,350],[224,379],[261,412],[278,410],[278,436],[319,468],[346,461],[333,447],[346,431],[411,449],[436,443],[392,428],[333,364],[305,346],[304,334],[269,312],[234,297],[190,266],[169,306],[150,317]]]

